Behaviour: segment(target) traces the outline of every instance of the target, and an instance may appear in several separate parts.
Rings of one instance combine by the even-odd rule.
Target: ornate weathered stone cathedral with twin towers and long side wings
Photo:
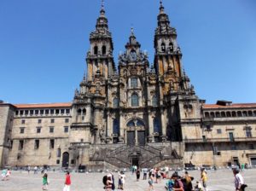
[[[206,104],[195,95],[162,3],[153,66],[140,47],[131,29],[114,63],[102,7],[73,102],[1,102],[1,166],[256,165],[256,104]]]

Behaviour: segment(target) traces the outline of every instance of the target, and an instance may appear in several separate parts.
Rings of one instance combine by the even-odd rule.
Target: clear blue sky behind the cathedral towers
[[[196,94],[207,103],[256,102],[256,1],[163,3]],[[72,101],[100,7],[100,0],[0,1],[0,99]],[[153,63],[159,0],[106,0],[105,9],[116,64],[131,26]]]

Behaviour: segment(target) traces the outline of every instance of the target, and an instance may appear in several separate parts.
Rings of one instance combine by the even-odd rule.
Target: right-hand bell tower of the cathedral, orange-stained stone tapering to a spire
[[[170,26],[170,20],[160,1],[160,13],[157,16],[154,32],[154,68],[160,77],[163,93],[167,95],[179,88],[179,79],[183,76],[182,53],[177,45],[176,29]]]

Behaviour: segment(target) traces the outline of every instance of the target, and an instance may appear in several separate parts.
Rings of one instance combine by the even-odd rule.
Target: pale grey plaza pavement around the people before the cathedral
[[[172,174],[170,171],[169,174]],[[183,171],[178,172],[179,175],[183,175]],[[195,177],[193,181],[200,179],[200,171],[189,171],[190,175]],[[49,174],[49,191],[62,191],[65,173],[64,172],[48,172]],[[106,173],[71,173],[71,191],[103,191],[102,177]],[[256,190],[256,169],[251,169],[241,172],[245,178],[247,185],[249,186],[247,191]],[[142,174],[141,174],[142,175]],[[209,181],[207,183],[209,191],[233,191],[234,177],[230,170],[218,170],[207,172]],[[148,190],[148,180],[136,181],[136,175],[131,175],[131,172],[126,172],[126,191],[145,191]],[[114,173],[115,183],[118,183],[118,174]],[[160,183],[154,184],[155,191],[165,190],[166,180],[161,180]],[[42,175],[40,173],[34,175],[33,171],[28,174],[26,171],[12,171],[9,181],[0,181],[0,191],[38,191],[42,190]]]

